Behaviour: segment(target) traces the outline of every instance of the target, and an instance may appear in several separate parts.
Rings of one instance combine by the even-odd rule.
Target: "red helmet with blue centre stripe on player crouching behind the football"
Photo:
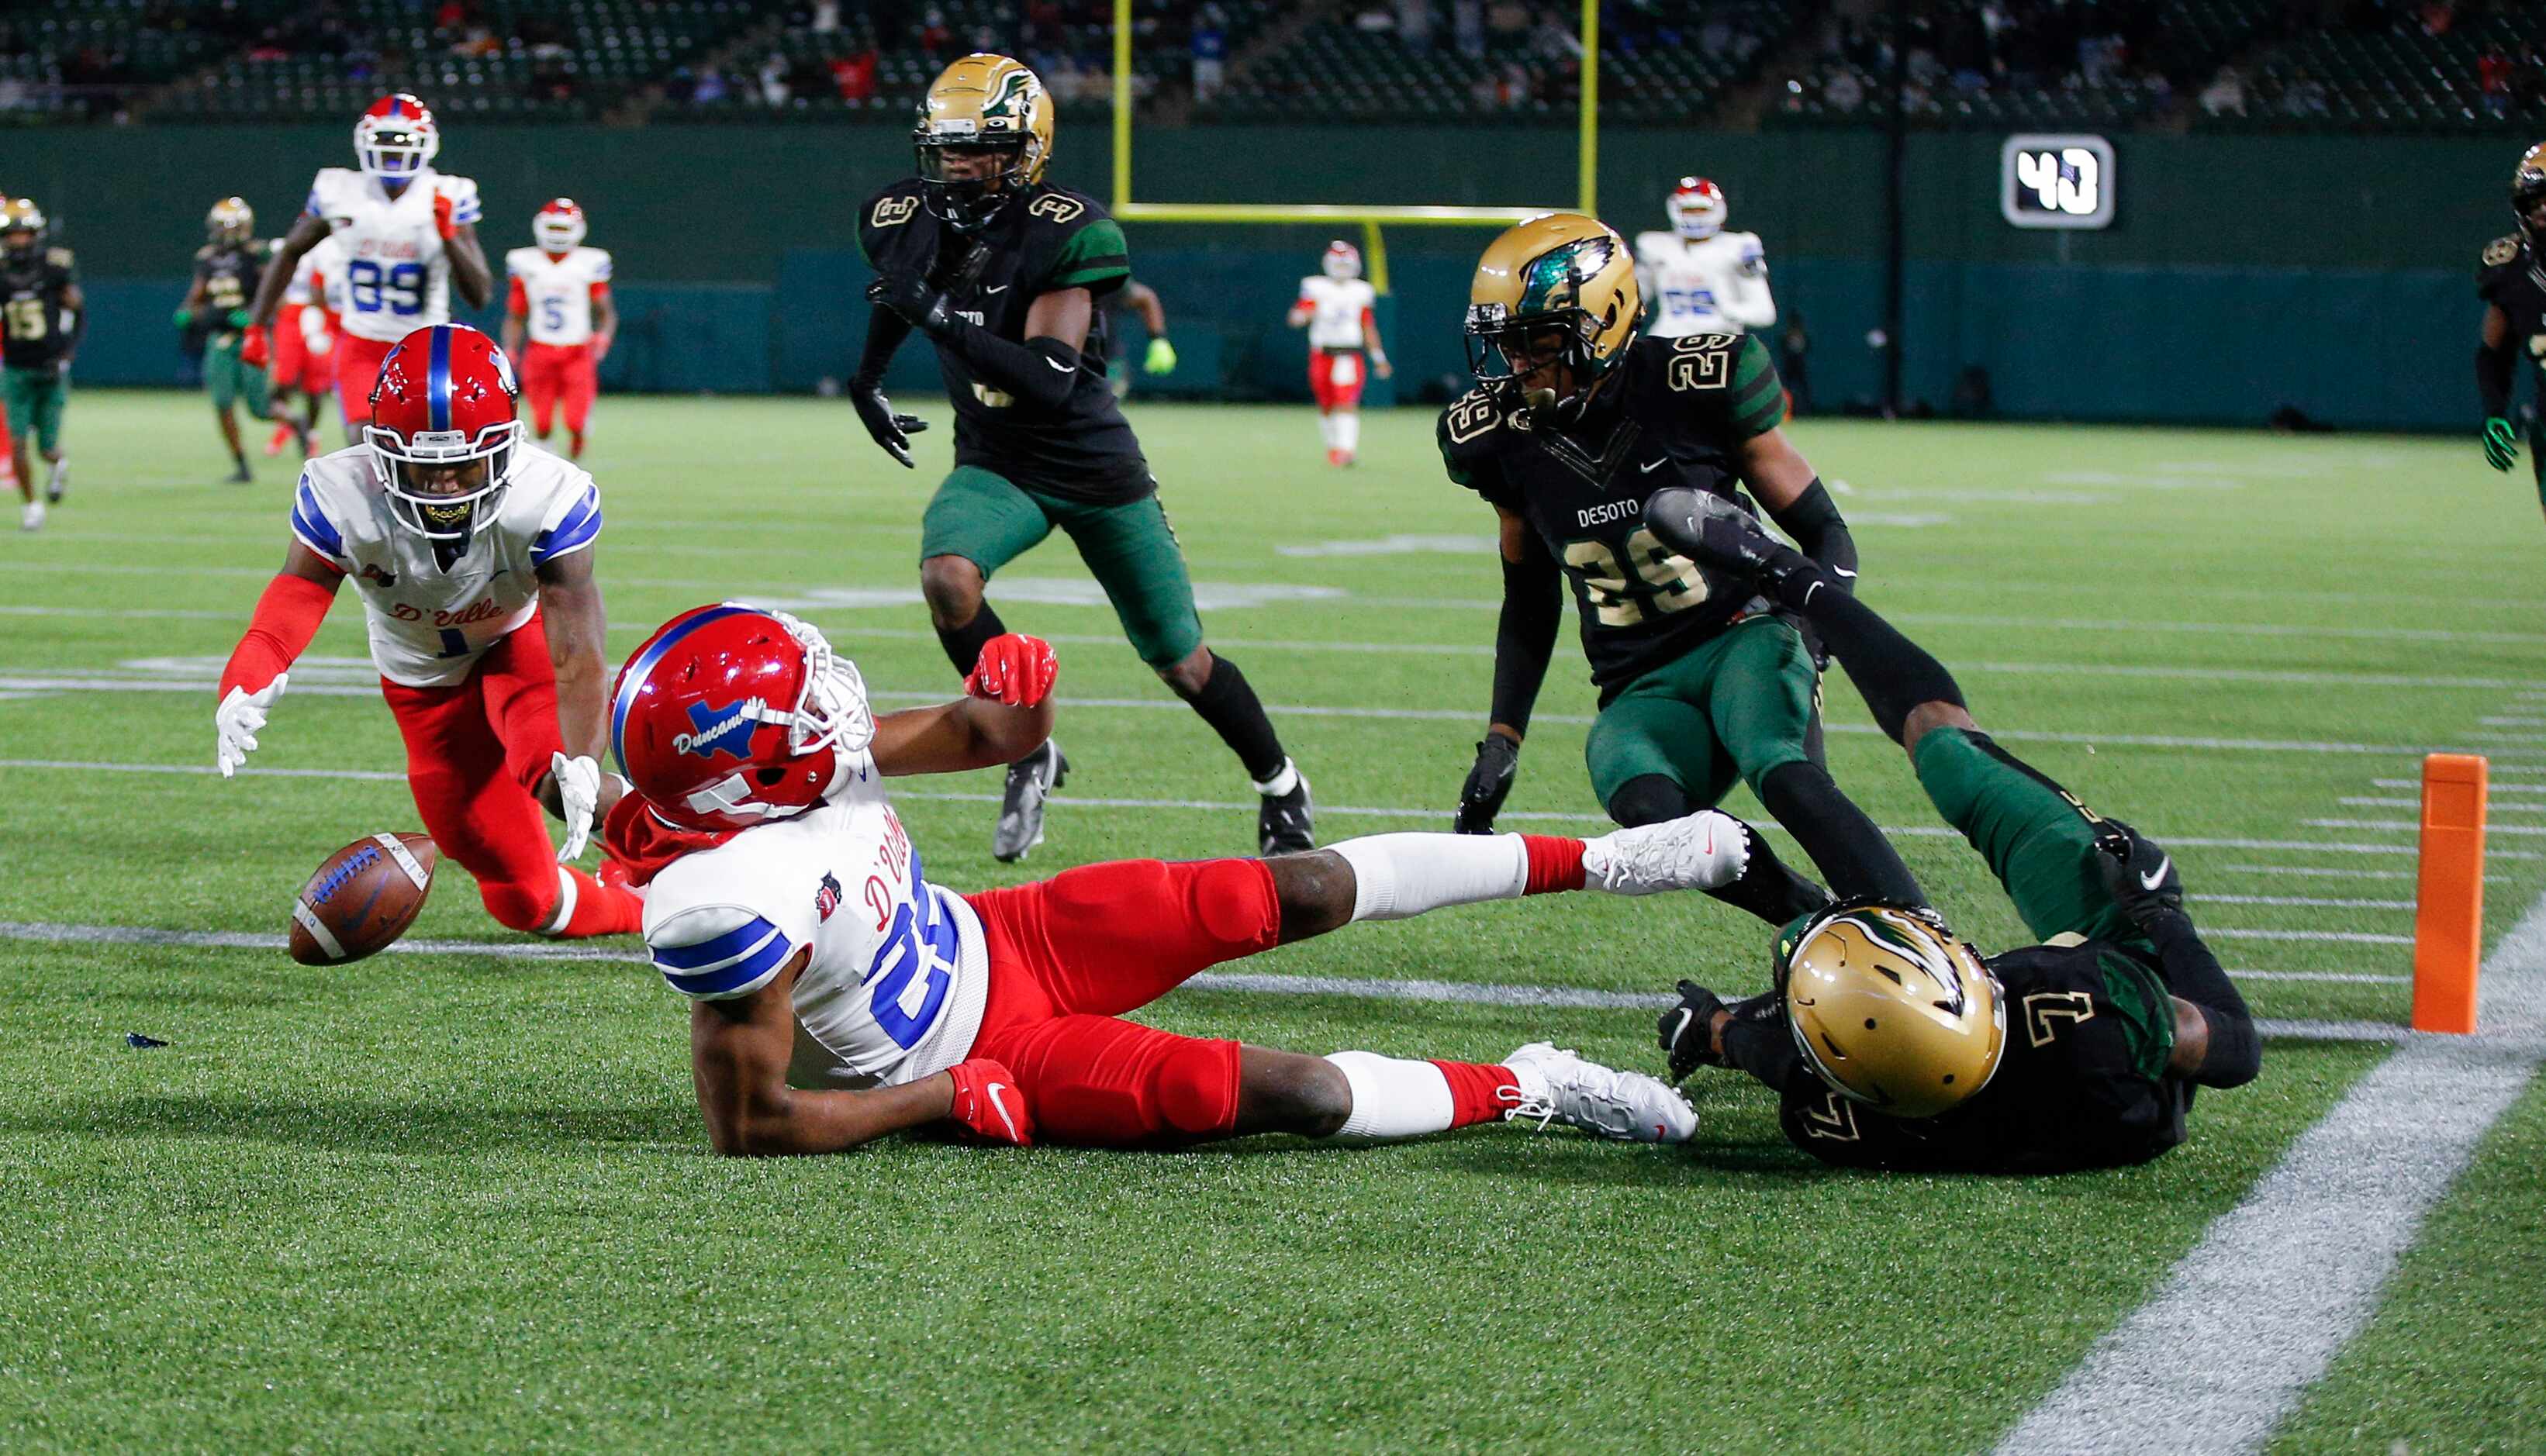
[[[494,522],[522,443],[512,359],[466,323],[418,328],[379,361],[362,443],[397,524],[466,542]]]

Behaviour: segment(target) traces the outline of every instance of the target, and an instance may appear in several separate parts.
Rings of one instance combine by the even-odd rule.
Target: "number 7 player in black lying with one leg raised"
[[[1935,657],[1747,514],[1660,491],[1645,519],[1820,629],[2044,942],[1983,960],[1925,904],[1838,904],[1780,934],[1767,995],[1724,1005],[1680,983],[1663,1016],[1673,1077],[1749,1072],[1828,1163],[1994,1173],[2144,1163],[2184,1140],[2192,1087],[2253,1082],[2246,998],[2164,850],[1999,748]]]

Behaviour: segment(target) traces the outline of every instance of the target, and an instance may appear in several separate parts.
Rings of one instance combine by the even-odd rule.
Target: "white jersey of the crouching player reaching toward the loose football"
[[[601,535],[601,489],[578,466],[522,440],[494,524],[443,570],[433,542],[390,514],[369,445],[349,445],[300,466],[293,535],[362,591],[382,677],[453,687],[540,608],[540,565],[588,550]]]

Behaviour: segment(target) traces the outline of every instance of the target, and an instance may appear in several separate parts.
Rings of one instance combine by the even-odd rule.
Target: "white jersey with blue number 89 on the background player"
[[[379,178],[354,168],[318,168],[308,214],[326,219],[344,247],[344,331],[395,344],[418,328],[451,323],[451,260],[433,224],[435,193],[451,199],[451,221],[481,214],[476,181],[415,173],[395,199]]]

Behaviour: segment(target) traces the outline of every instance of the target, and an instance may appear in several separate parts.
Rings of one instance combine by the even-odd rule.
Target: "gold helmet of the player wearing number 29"
[[[1533,425],[1581,412],[1642,331],[1635,255],[1579,211],[1533,216],[1484,247],[1466,285],[1466,364]]]

